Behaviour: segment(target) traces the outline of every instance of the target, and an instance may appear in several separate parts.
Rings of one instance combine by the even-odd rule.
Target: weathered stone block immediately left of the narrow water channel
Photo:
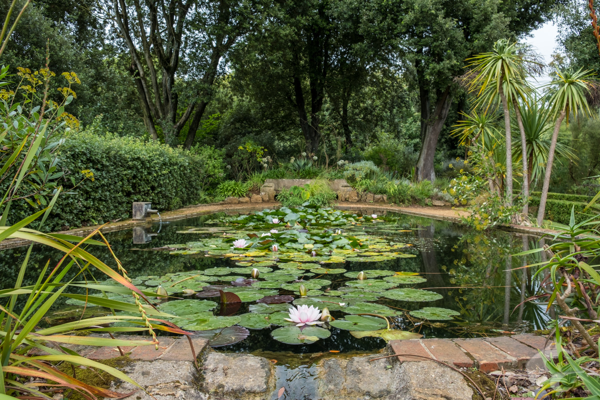
[[[202,364],[202,391],[215,398],[262,400],[275,390],[273,364],[240,353],[209,353]]]

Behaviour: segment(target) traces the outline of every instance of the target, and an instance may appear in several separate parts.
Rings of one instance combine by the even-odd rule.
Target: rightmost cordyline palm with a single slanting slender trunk
[[[546,172],[544,175],[544,186],[542,187],[542,196],[539,199],[538,209],[538,225],[541,226],[544,221],[546,211],[546,200],[548,198],[548,188],[550,187],[550,176],[552,175],[552,163],[554,161],[554,151],[556,150],[556,142],[559,136],[560,125],[566,118],[567,125],[569,124],[569,115],[577,117],[581,114],[592,115],[590,107],[587,105],[586,94],[590,89],[590,77],[592,71],[583,71],[580,68],[578,71],[555,71],[554,79],[548,83],[550,87],[551,97],[548,103],[551,107],[551,117],[556,119],[554,124],[554,132],[550,149],[548,151],[548,163],[546,164]],[[590,143],[591,144],[591,143]]]

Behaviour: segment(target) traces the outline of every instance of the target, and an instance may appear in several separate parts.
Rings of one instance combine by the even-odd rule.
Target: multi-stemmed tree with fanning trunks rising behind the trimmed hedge
[[[187,125],[189,149],[222,59],[255,26],[260,8],[253,0],[113,0],[112,13],[146,129],[158,139],[158,125],[175,143]]]

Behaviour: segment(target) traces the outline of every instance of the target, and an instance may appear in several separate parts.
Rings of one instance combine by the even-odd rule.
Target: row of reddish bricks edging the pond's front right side
[[[394,340],[389,343],[401,362],[424,361],[430,357],[457,367],[476,367],[484,372],[499,369],[542,367],[539,350],[544,348],[546,338],[536,335],[499,336],[475,339],[412,339]],[[548,341],[544,354],[548,357],[556,343]],[[555,352],[556,354],[556,352]]]

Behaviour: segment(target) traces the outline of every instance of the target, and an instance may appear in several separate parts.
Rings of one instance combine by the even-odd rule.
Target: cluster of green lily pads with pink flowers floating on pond
[[[409,245],[362,231],[362,224],[378,220],[384,221],[377,215],[316,207],[281,207],[233,217],[226,220],[224,228],[186,230],[183,233],[200,237],[167,248],[173,255],[227,258],[235,265],[138,276],[134,283],[164,296],[158,310],[169,317],[162,318],[197,331],[213,347],[244,340],[250,334],[248,329],[266,328],[272,329],[272,338],[286,344],[311,344],[328,338],[332,327],[349,330],[356,338],[418,338],[418,333],[394,329],[391,321],[403,317],[404,311],[381,302],[441,299],[440,294],[413,287],[425,282],[421,275],[346,269],[346,261],[415,257],[400,251],[410,249]],[[112,296],[121,300],[121,295]],[[170,299],[165,301],[167,296]],[[183,296],[188,298],[181,299]],[[69,300],[74,305],[79,301]],[[242,308],[244,303],[249,304]],[[410,314],[433,321],[449,320],[458,313],[425,307]]]

